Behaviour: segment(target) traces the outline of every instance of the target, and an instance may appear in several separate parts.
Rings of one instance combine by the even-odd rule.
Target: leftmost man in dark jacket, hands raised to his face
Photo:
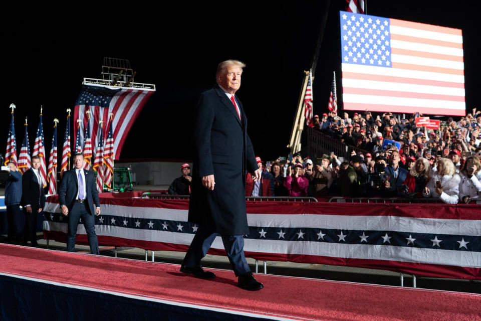
[[[5,184],[5,205],[7,206],[7,221],[9,223],[8,241],[20,241],[20,201],[22,200],[22,173],[13,162],[7,164],[9,177]]]

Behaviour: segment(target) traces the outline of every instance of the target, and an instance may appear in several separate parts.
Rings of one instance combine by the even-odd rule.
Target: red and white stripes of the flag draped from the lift
[[[89,84],[89,86],[100,86],[113,89],[119,89],[118,87],[109,87],[102,85]],[[113,135],[114,135],[114,159],[119,159],[120,151],[125,142],[125,138],[132,127],[135,119],[139,115],[140,111],[144,107],[145,103],[149,100],[150,96],[155,92],[153,89],[132,89],[122,88],[110,101],[109,107],[99,107],[91,105],[77,105],[75,106],[74,119],[79,119],[79,115],[83,115],[85,111],[90,110],[90,129],[92,135],[92,145],[94,147],[94,154],[96,153],[99,136],[99,119],[103,120],[104,124],[108,123],[109,113],[113,113]],[[84,117],[83,127],[87,119]],[[83,131],[81,128],[81,135],[83,139]],[[105,130],[106,128],[104,128]],[[75,128],[75,133],[77,128]],[[104,132],[104,137],[107,137]]]

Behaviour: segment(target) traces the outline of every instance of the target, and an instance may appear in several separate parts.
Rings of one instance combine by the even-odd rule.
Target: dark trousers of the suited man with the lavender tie
[[[72,211],[67,216],[69,220],[67,228],[67,250],[69,252],[75,252],[75,238],[77,236],[77,227],[79,225],[80,218],[84,223],[87,237],[89,238],[90,253],[99,254],[99,242],[97,240],[97,234],[95,234],[95,216],[90,214],[90,210],[87,209],[87,203],[74,203]]]

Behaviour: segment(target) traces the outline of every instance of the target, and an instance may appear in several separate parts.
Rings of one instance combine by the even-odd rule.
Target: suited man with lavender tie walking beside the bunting
[[[95,234],[94,214],[100,215],[99,193],[94,175],[84,170],[84,155],[74,156],[74,169],[65,172],[59,188],[59,203],[62,214],[68,217],[67,250],[75,252],[75,237],[80,218],[89,239],[90,252],[99,254],[99,242]],[[94,202],[96,208],[94,208]]]

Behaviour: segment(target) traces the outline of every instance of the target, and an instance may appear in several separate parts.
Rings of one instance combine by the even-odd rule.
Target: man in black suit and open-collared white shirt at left
[[[40,177],[40,156],[32,156],[32,167],[22,178],[22,207],[25,214],[24,245],[30,239],[37,246],[37,215],[45,206],[45,191]]]

